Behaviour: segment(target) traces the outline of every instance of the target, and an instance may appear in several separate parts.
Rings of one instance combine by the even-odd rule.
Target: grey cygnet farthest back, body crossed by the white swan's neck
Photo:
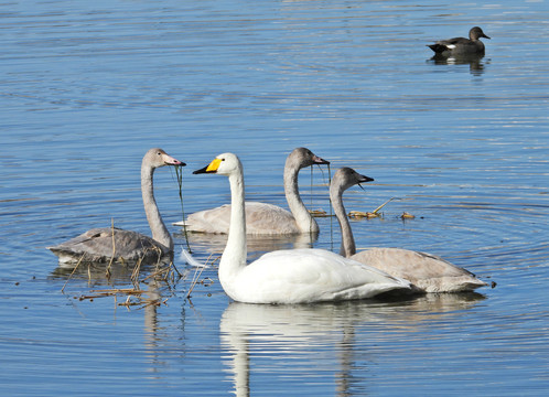
[[[250,235],[290,235],[319,233],[319,225],[301,201],[298,187],[298,173],[302,168],[313,164],[330,164],[305,148],[294,149],[286,160],[284,193],[290,212],[277,205],[246,202],[246,233]],[[227,234],[230,222],[230,204],[201,211],[189,215],[185,222],[187,230],[198,233]]]

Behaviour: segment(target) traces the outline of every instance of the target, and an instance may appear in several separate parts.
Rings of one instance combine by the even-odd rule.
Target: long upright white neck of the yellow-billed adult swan
[[[241,169],[229,175],[230,224],[227,246],[219,261],[219,281],[232,298],[235,297],[233,280],[246,267],[246,211],[244,204],[244,174]]]

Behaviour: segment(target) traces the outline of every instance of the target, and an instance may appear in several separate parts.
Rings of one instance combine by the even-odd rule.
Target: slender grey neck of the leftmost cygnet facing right
[[[157,201],[154,200],[154,190],[152,186],[152,176],[154,169],[150,165],[143,164],[141,167],[141,194],[143,195],[144,213],[147,221],[152,232],[152,238],[164,246],[169,251],[173,250],[173,239],[168,232],[168,228],[160,215]]]

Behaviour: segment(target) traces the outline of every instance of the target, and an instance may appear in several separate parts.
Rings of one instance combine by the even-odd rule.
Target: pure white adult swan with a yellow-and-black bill
[[[233,153],[219,154],[194,173],[226,175],[230,184],[230,225],[219,261],[219,281],[235,301],[309,303],[370,298],[410,285],[385,272],[323,249],[278,250],[246,265],[244,174]]]

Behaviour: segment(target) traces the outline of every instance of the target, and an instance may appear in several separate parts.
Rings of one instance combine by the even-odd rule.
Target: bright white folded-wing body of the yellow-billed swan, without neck
[[[308,303],[365,299],[409,288],[406,280],[334,253],[293,249],[266,254],[248,265],[232,293],[249,303]]]

